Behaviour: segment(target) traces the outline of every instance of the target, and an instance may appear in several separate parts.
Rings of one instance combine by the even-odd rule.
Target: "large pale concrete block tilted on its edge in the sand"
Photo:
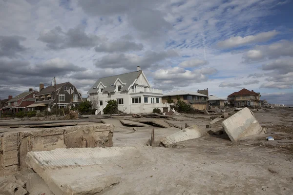
[[[243,108],[225,119],[222,122],[222,126],[231,141],[237,141],[241,137],[256,135],[262,132],[262,127],[248,108]]]

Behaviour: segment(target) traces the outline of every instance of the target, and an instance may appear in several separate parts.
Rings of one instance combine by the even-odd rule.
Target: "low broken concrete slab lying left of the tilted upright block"
[[[186,141],[189,139],[195,139],[198,137],[203,137],[206,135],[208,135],[206,131],[204,131],[197,125],[193,125],[191,127],[185,128],[175,134],[172,134],[170,136],[167,136],[161,139],[161,143],[166,148],[172,148],[172,147],[175,147],[178,142]]]

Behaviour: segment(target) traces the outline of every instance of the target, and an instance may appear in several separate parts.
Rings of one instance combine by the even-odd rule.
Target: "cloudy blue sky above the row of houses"
[[[293,104],[293,0],[0,0],[0,98],[140,66],[153,88]]]

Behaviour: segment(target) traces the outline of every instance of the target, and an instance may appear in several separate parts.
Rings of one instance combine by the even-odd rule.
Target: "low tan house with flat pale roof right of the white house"
[[[187,103],[192,108],[197,110],[204,110],[207,109],[208,97],[208,95],[204,95],[198,92],[179,90],[165,93],[162,97],[162,103],[170,103],[172,100],[174,103],[176,103],[177,98],[180,98],[181,101]]]

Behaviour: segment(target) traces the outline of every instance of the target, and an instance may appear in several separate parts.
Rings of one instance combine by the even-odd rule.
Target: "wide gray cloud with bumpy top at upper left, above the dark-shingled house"
[[[104,39],[93,34],[86,34],[81,26],[69,29],[67,32],[63,32],[62,28],[57,26],[52,30],[42,31],[38,40],[47,43],[48,48],[57,50],[70,47],[94,47]]]

